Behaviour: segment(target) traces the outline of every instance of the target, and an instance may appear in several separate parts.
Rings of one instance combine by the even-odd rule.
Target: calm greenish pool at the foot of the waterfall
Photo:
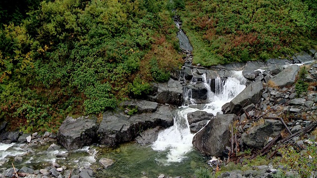
[[[117,148],[99,148],[98,151],[97,161],[109,158],[114,160],[114,164],[108,169],[98,170],[97,178],[157,178],[160,174],[192,178],[196,169],[207,165],[207,158],[196,151],[188,153],[187,159],[181,163],[165,165],[167,152],[157,152],[136,143],[122,144]]]

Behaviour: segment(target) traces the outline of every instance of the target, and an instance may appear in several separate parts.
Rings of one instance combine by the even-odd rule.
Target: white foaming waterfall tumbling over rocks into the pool
[[[201,77],[208,90],[207,99],[209,101],[201,111],[206,111],[213,115],[222,114],[221,107],[246,88],[246,79],[243,77],[242,71],[233,72],[232,76],[225,81],[220,78],[215,79],[214,92],[211,91],[211,79],[206,79],[206,74]],[[196,83],[197,78],[193,78],[191,84]],[[164,165],[169,165],[172,162],[181,162],[186,158],[186,154],[192,151],[192,140],[195,134],[190,133],[187,114],[199,109],[189,107],[189,105],[196,104],[195,99],[191,98],[191,93],[191,89],[185,89],[184,104],[174,117],[174,125],[160,132],[158,139],[152,145],[154,150],[168,152],[166,159],[157,160]]]

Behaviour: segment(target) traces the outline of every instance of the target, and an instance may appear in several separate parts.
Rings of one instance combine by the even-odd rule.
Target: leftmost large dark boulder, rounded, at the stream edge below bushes
[[[57,141],[67,150],[74,150],[90,145],[97,140],[98,130],[96,117],[67,116],[57,133]]]

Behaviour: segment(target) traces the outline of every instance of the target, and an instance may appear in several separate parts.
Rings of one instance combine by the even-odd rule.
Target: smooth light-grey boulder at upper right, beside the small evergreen
[[[290,87],[295,83],[295,78],[298,71],[298,65],[288,66],[282,72],[276,74],[273,78],[271,78],[268,83],[271,85],[271,87]]]

